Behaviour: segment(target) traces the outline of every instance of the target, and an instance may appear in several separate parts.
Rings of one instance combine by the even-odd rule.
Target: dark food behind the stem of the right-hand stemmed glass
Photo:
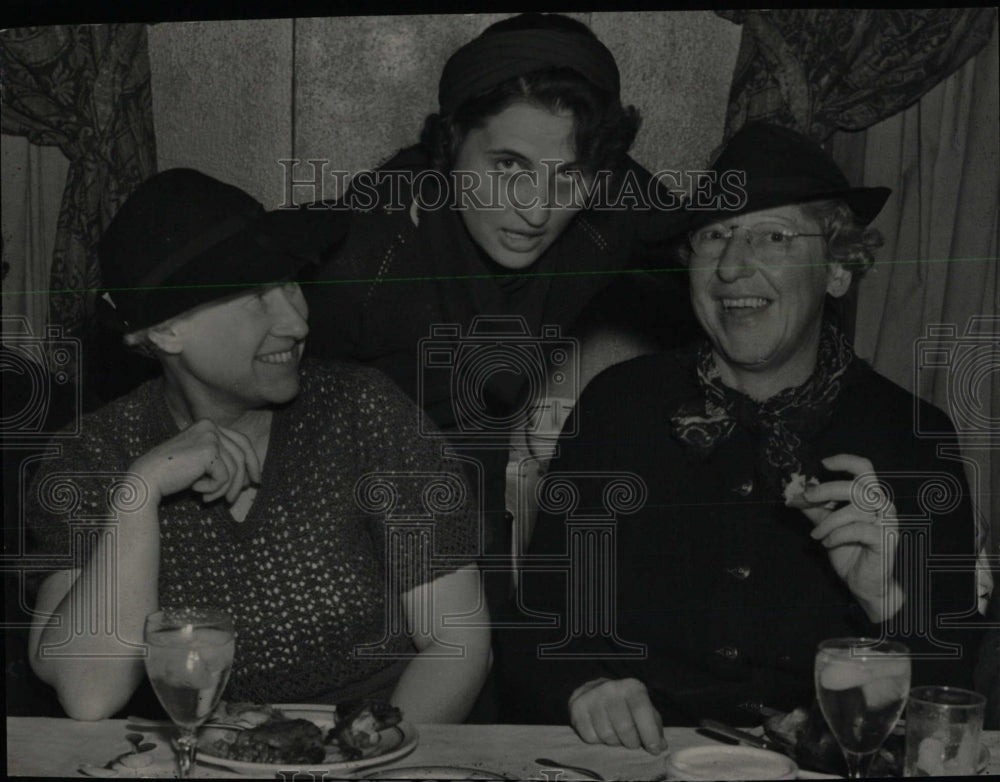
[[[764,732],[780,744],[802,768],[840,776],[847,773],[844,755],[817,702],[808,710],[798,708],[787,714],[768,718],[764,721]],[[905,752],[905,733],[897,725],[875,753],[868,775],[902,776]]]

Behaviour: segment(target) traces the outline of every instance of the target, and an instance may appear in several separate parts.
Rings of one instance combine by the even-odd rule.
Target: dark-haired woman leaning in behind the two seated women
[[[619,82],[607,47],[558,14],[505,19],[457,50],[421,144],[348,194],[350,235],[304,287],[309,350],[382,369],[453,443],[516,426],[536,369],[526,364],[548,355],[543,327],[572,326],[616,272],[664,263],[671,215],[648,207],[670,195],[626,154],[638,116]],[[588,193],[609,208],[587,208]],[[693,323],[679,287],[675,298],[671,317]],[[459,356],[465,343],[474,360],[428,371],[421,341],[438,325],[451,344],[436,347]],[[487,551],[509,554],[507,451],[469,456],[485,476]]]

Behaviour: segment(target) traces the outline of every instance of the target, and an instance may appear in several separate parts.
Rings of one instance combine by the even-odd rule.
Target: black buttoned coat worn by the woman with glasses
[[[898,629],[867,618],[833,571],[826,549],[810,538],[812,523],[762,485],[748,433],[738,430],[708,457],[671,436],[671,416],[697,394],[690,351],[620,364],[585,390],[574,411],[579,434],[560,441],[561,454],[547,480],[563,478],[576,487],[579,501],[569,514],[577,543],[570,546],[583,552],[589,547],[590,554],[577,559],[589,556],[596,563],[571,578],[570,591],[602,580],[614,581],[617,591],[605,606],[581,606],[568,615],[567,510],[565,505],[543,509],[529,569],[544,565],[537,558],[546,556],[551,567],[523,574],[515,618],[541,621],[537,613],[529,619],[530,609],[555,614],[562,624],[500,634],[505,720],[565,723],[568,697],[580,684],[636,677],[649,688],[664,724],[692,725],[705,717],[746,724],[752,718],[741,704],[786,709],[811,701],[821,640],[877,637]],[[928,604],[919,591],[932,562],[921,560],[911,544],[929,529],[932,560],[971,556],[974,524],[962,464],[938,458],[939,441],[914,436],[914,403],[911,394],[856,360],[829,425],[812,445],[819,458],[863,456],[887,480],[900,524],[908,528],[895,568],[906,592],[897,621],[926,615],[935,627],[945,613],[974,614],[974,573],[968,568],[934,573]],[[925,424],[951,429],[943,413],[918,404]],[[622,487],[617,500],[613,490],[606,491],[614,480]],[[944,486],[944,499],[935,499],[933,491],[921,493],[935,480]],[[644,501],[633,503],[629,484],[645,491]],[[641,507],[629,508],[630,503]],[[585,522],[579,526],[581,516],[608,515],[609,504],[618,506],[614,519],[591,522],[589,532]],[[601,552],[612,543],[613,553],[602,564]],[[964,643],[959,659],[915,661],[913,681],[970,684],[974,637],[943,628],[933,630],[934,639],[896,635],[925,653],[948,654],[941,643]],[[558,646],[564,638],[568,641]],[[541,650],[540,644],[558,648]],[[644,657],[637,644],[645,646]],[[612,651],[618,656],[584,659],[607,658]]]

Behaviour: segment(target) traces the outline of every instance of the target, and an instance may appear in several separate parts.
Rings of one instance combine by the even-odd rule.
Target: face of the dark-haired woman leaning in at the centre
[[[470,130],[456,152],[462,220],[500,266],[531,266],[583,208],[575,126],[569,112],[522,101]]]

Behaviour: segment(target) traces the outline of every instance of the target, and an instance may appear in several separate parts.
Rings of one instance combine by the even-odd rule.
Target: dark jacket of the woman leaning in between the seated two
[[[426,155],[411,147],[380,167],[377,182],[352,185],[344,202],[353,206],[348,237],[304,287],[310,309],[307,350],[381,369],[443,430],[468,431],[475,424],[456,417],[455,374],[463,366],[488,363],[494,345],[513,345],[514,371],[487,372],[484,380],[486,420],[504,418],[525,399],[532,370],[549,358],[550,346],[565,338],[597,293],[623,271],[669,265],[667,247],[679,213],[643,208],[652,204],[645,193],[656,184],[629,158],[604,199],[614,203],[622,193],[621,208],[582,211],[530,268],[511,274],[472,241],[457,211],[421,209],[414,225],[408,183],[421,173],[442,177],[429,169]],[[641,198],[627,197],[626,176]],[[443,177],[423,179],[421,203],[438,202],[436,191],[426,191],[435,181]],[[659,198],[668,203],[662,192]],[[691,330],[694,323],[685,283],[668,273],[643,274],[638,282],[659,289],[660,312],[672,313],[678,335],[680,324]],[[481,324],[481,333],[470,335],[477,316],[520,316],[526,330],[503,337]],[[451,324],[458,331],[441,329]],[[555,329],[543,333],[543,326]],[[467,346],[462,354],[459,345]],[[441,357],[448,351],[450,360],[428,361],[429,352]],[[544,377],[544,364],[538,369],[536,377]]]

